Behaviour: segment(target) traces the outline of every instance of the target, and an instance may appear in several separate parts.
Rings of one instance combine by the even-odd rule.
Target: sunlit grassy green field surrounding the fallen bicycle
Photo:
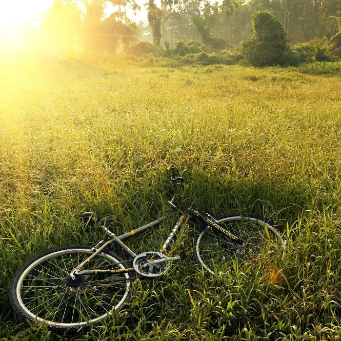
[[[301,71],[3,64],[0,338],[64,338],[14,316],[13,274],[45,250],[95,245],[102,233],[85,233],[83,211],[113,216],[117,233],[157,218],[175,164],[188,169],[184,204],[276,223],[283,282],[243,269],[207,278],[188,256],[68,339],[340,339],[341,78]],[[127,244],[158,250],[173,223]]]

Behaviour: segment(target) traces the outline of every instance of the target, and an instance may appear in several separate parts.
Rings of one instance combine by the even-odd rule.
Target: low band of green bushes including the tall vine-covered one
[[[123,61],[128,60],[137,65],[172,67],[190,64],[297,66],[302,63],[339,60],[335,53],[332,53],[335,52],[332,39],[328,40],[326,37],[295,45],[289,44],[283,24],[267,10],[253,14],[252,28],[252,36],[240,42],[232,51],[192,40],[187,43],[177,41],[174,48],[165,44],[165,49],[148,42],[139,42],[120,55]]]

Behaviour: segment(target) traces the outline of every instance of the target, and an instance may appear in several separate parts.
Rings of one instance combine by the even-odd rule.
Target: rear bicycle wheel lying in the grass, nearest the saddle
[[[46,324],[54,332],[76,332],[99,324],[130,297],[128,273],[82,275],[77,285],[68,274],[93,252],[87,246],[63,247],[45,252],[24,265],[13,278],[10,302],[15,313],[29,322]],[[122,269],[118,256],[102,251],[83,268]]]

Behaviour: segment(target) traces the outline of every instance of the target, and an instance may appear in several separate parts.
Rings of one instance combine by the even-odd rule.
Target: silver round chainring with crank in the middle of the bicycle
[[[153,264],[154,260],[166,258],[161,252],[149,251],[140,253],[134,258],[133,267],[137,273],[145,277],[158,277],[163,275],[169,265],[166,262]]]

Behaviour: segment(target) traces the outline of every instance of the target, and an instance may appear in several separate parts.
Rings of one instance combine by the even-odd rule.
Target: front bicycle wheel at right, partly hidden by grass
[[[196,262],[209,273],[226,272],[235,266],[259,267],[275,254],[284,256],[284,240],[273,225],[262,218],[225,215],[216,220],[244,244],[234,243],[215,228],[203,227],[194,237],[194,255]]]

